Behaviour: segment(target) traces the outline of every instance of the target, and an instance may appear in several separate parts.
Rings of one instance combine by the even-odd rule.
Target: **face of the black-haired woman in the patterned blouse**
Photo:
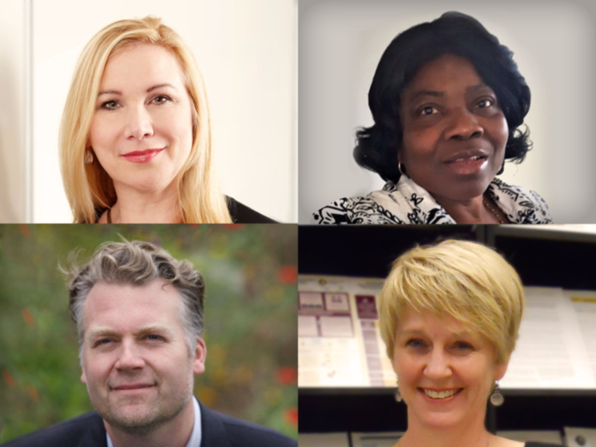
[[[434,197],[477,197],[501,169],[507,121],[468,60],[445,54],[424,64],[402,92],[401,119],[402,166]]]

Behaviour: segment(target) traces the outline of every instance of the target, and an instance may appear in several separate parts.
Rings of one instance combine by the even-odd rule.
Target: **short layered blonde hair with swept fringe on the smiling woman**
[[[524,305],[522,281],[495,250],[470,241],[417,246],[393,263],[379,296],[381,336],[393,359],[400,316],[408,309],[450,315],[510,358]]]

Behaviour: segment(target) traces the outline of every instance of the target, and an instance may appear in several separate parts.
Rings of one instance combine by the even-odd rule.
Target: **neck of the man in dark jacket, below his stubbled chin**
[[[156,427],[150,433],[132,434],[111,426],[104,420],[105,431],[114,447],[184,447],[193,433],[193,399],[172,420]]]

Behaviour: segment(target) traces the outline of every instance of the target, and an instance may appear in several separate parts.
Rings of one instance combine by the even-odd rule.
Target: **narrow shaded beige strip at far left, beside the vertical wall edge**
[[[0,3],[0,223],[26,221],[25,0]]]

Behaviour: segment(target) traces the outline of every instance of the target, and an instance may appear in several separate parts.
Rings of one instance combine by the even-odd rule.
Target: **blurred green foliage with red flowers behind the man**
[[[0,225],[0,443],[92,409],[58,263],[120,235],[203,274],[200,401],[297,439],[296,225]]]

